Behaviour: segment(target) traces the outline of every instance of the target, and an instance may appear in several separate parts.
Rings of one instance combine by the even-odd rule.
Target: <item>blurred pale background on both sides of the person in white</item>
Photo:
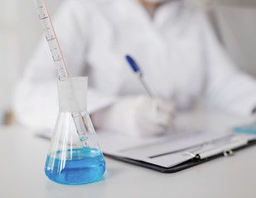
[[[187,1],[207,12],[234,63],[256,77],[256,0]],[[46,1],[51,14],[63,2]],[[0,0],[0,125],[12,120],[13,88],[40,36],[32,0]]]

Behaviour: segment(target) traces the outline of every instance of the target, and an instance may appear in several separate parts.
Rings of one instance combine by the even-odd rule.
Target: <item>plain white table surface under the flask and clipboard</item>
[[[178,117],[181,127],[226,130],[250,119],[216,113]],[[49,141],[22,126],[0,128],[0,197],[256,197],[256,146],[229,158],[217,158],[181,172],[166,174],[105,158],[100,181],[60,185],[46,178],[44,165]]]

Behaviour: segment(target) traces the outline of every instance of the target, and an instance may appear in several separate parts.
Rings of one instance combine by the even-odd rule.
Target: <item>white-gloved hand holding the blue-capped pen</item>
[[[160,97],[124,97],[93,115],[94,125],[133,135],[158,135],[173,130],[176,108]]]

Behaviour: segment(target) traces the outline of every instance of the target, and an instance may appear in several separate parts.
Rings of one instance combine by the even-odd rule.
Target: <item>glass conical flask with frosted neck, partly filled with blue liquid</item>
[[[58,80],[60,112],[46,158],[46,176],[63,184],[95,181],[105,171],[104,156],[86,110],[88,78]]]

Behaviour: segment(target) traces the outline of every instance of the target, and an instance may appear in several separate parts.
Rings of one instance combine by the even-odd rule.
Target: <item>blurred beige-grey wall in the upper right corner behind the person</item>
[[[239,68],[256,77],[256,1],[215,0],[220,39]]]

